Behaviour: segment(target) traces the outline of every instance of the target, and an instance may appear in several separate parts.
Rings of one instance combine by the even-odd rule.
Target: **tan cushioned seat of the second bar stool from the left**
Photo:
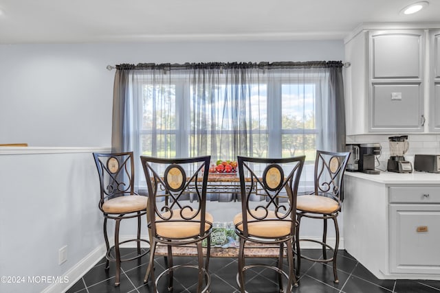
[[[163,213],[164,217],[169,216],[169,212]],[[194,215],[194,211],[190,211],[189,209],[184,210],[184,217],[189,218],[191,215]],[[161,220],[159,217],[156,217],[157,220]],[[190,222],[189,220],[185,220],[181,218],[180,209],[173,210],[173,220],[182,220],[182,222],[156,222],[156,233],[159,236],[170,238],[170,239],[185,239],[190,237],[195,237],[199,235],[200,232],[200,223],[199,222]],[[200,213],[192,220],[200,220]],[[206,222],[212,223],[214,218],[210,213],[205,214]],[[205,224],[205,232],[210,229],[211,225]]]

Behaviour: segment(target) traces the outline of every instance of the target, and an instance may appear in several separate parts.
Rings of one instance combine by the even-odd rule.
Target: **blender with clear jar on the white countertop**
[[[388,137],[390,143],[390,159],[386,165],[389,172],[397,173],[411,173],[412,164],[405,160],[404,154],[408,152],[409,143],[408,135],[401,135],[399,137]]]

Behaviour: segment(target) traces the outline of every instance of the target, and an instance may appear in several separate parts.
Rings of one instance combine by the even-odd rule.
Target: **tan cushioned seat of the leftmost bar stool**
[[[120,196],[104,202],[102,210],[106,213],[131,213],[146,209],[147,202],[146,196]]]

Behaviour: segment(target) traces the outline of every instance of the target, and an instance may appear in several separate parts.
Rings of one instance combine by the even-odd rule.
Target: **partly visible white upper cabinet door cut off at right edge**
[[[440,131],[440,30],[430,32],[430,131]]]

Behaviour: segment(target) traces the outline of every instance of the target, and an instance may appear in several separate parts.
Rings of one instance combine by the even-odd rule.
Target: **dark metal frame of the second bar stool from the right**
[[[285,159],[261,159],[261,158],[250,158],[245,156],[237,157],[239,165],[239,177],[241,185],[241,216],[243,220],[235,224],[235,232],[239,236],[240,246],[239,246],[239,272],[237,274],[237,283],[240,287],[241,292],[245,292],[245,270],[255,267],[270,268],[278,272],[278,285],[280,292],[283,291],[282,276],[284,276],[287,283],[287,292],[292,292],[292,286],[298,286],[296,280],[296,274],[294,273],[294,253],[293,244],[296,231],[296,196],[298,193],[298,185],[300,174],[303,169],[305,156],[296,156],[293,158]],[[282,164],[292,163],[285,176],[284,171],[281,167]],[[265,171],[263,172],[263,177],[255,174],[252,165],[262,164],[266,165]],[[272,186],[272,183],[267,181],[268,175],[272,168],[275,173],[280,174],[277,178],[278,183],[276,186]],[[245,172],[250,174],[250,178],[245,178]],[[256,185],[261,186],[259,189],[261,193],[266,197],[265,202],[259,202],[257,207],[250,207],[250,201],[252,200],[252,191]],[[281,194],[285,191],[285,194]],[[283,198],[283,200],[281,200]],[[280,202],[281,200],[281,202]],[[260,212],[259,212],[260,211]],[[263,211],[263,215],[261,215]],[[272,211],[275,218],[269,218],[268,215]],[[248,218],[248,213],[252,218]],[[290,233],[280,237],[261,237],[252,235],[249,232],[248,225],[251,223],[257,223],[262,221],[285,221],[290,223]],[[242,226],[242,229],[239,226]],[[255,263],[251,265],[245,265],[245,243],[247,241],[257,242],[261,244],[274,244],[279,248],[279,254],[277,259],[277,266],[270,266],[264,263]],[[283,253],[284,249],[287,250],[287,263],[289,266],[288,272],[283,271]]]

